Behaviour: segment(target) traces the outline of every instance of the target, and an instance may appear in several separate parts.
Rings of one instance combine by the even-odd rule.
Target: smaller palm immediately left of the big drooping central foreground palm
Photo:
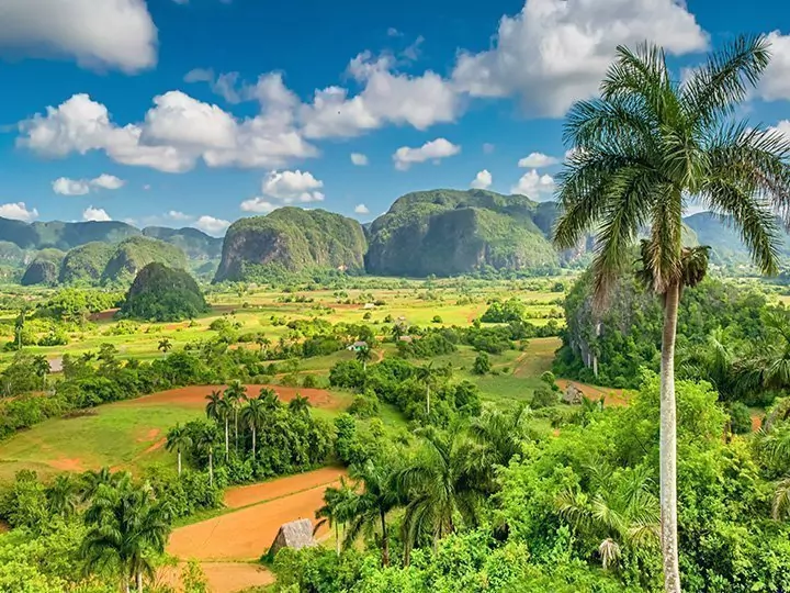
[[[382,549],[382,566],[390,566],[390,535],[386,516],[398,505],[399,497],[395,483],[396,472],[383,463],[372,460],[359,468],[351,468],[353,497],[348,502],[349,526],[346,530],[343,547],[350,547],[362,530],[368,533],[381,529],[379,545]]]

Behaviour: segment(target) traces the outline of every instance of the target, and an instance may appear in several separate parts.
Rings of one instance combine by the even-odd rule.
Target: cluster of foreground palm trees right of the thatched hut
[[[326,523],[335,528],[338,553],[360,535],[372,536],[382,564],[388,566],[387,519],[402,510],[403,561],[408,564],[415,547],[436,546],[454,533],[455,517],[466,526],[476,525],[481,504],[496,491],[494,468],[523,452],[528,417],[524,406],[487,410],[465,427],[419,430],[422,446],[414,457],[369,459],[350,469],[350,482],[327,489],[316,528]]]

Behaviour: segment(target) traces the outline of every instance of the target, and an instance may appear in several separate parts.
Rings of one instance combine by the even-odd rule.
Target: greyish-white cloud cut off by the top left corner
[[[157,29],[145,0],[3,0],[3,53],[135,72],[156,64]]]

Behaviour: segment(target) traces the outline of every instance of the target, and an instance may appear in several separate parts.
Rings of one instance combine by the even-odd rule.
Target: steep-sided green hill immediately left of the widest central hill
[[[215,281],[252,279],[267,269],[362,269],[365,248],[362,226],[352,219],[281,208],[230,225]]]

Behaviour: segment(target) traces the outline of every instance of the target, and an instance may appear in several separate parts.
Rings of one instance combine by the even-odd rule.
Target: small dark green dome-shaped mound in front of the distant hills
[[[137,273],[119,314],[161,322],[196,317],[206,310],[203,292],[189,272],[155,262]]]

